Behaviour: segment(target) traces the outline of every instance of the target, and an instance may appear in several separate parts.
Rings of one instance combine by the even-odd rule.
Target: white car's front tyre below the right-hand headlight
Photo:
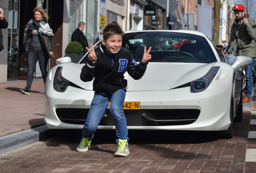
[[[233,99],[231,99],[230,103],[230,125],[227,130],[221,131],[219,134],[219,139],[231,139],[234,135],[234,111],[233,111]]]

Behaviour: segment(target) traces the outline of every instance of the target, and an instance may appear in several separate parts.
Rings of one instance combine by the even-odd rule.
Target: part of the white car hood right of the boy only
[[[128,91],[163,91],[179,87],[204,76],[212,64],[150,62],[140,80],[125,74]]]

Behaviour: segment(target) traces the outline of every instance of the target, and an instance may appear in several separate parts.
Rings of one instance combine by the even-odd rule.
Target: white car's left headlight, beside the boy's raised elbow
[[[57,67],[54,75],[53,87],[55,91],[63,93],[68,88],[69,81],[66,80],[64,77],[62,77],[61,71],[62,71],[62,67]]]

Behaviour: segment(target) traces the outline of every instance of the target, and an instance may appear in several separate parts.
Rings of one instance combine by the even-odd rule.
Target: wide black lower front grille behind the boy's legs
[[[68,124],[83,125],[89,109],[58,108],[56,113],[60,121]],[[200,114],[198,109],[147,109],[124,110],[128,126],[168,126],[188,125],[194,123]],[[114,126],[109,109],[101,119],[99,125]]]

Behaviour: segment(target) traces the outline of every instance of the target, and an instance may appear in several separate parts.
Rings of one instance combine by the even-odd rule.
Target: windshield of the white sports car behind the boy
[[[129,32],[123,34],[122,46],[132,52],[137,62],[141,61],[145,46],[147,50],[151,46],[151,62],[217,61],[206,39],[195,34],[167,31]]]

